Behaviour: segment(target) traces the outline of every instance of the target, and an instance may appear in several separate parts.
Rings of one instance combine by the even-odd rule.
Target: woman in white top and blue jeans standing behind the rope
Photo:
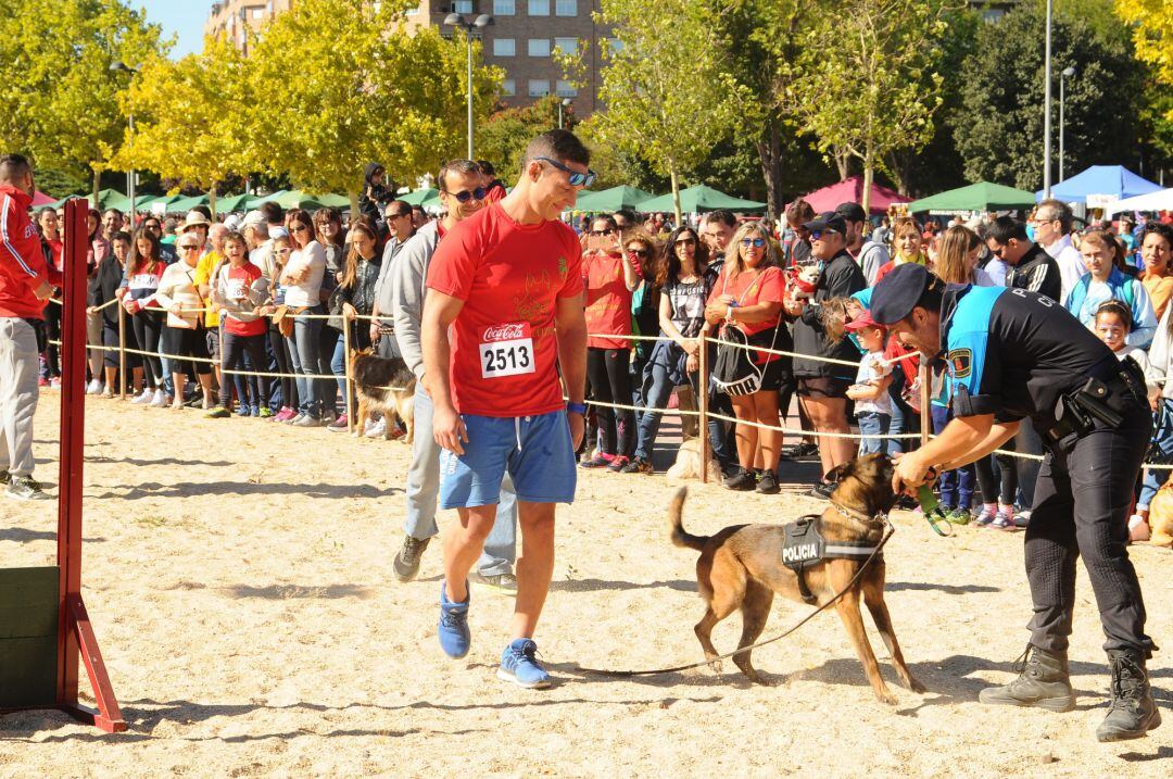
[[[290,357],[293,359],[293,372],[300,377],[297,379],[297,392],[301,400],[298,415],[289,420],[289,424],[318,427],[323,424],[325,402],[327,398],[333,398],[335,390],[330,371],[330,355],[321,348],[321,327],[325,320],[317,318],[326,311],[326,306],[321,304],[326,252],[314,239],[313,222],[304,210],[292,209],[285,216],[285,229],[293,251],[282,271],[279,283],[285,287],[285,305],[293,314],[293,336],[289,338]]]

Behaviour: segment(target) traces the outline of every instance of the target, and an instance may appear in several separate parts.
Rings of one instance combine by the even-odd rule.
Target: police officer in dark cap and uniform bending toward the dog
[[[934,468],[989,455],[1030,419],[1046,455],[1026,527],[1035,616],[1022,673],[982,690],[988,704],[1071,711],[1067,672],[1076,558],[1096,592],[1112,670],[1101,741],[1139,738],[1160,724],[1145,661],[1145,607],[1128,560],[1127,509],[1151,432],[1144,375],[1055,300],[1029,290],[949,286],[901,265],[876,285],[872,317],[906,345],[945,360],[954,419],[900,458],[893,487],[913,490]],[[1078,501],[1076,500],[1078,497]]]

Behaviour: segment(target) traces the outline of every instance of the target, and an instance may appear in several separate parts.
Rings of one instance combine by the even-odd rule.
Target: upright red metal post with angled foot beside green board
[[[127,730],[102,652],[81,597],[82,463],[86,443],[86,256],[89,204],[65,205],[61,313],[61,472],[57,501],[57,695],[56,705],[108,733]],[[50,303],[49,305],[55,305]],[[97,710],[77,703],[77,664],[86,665]]]

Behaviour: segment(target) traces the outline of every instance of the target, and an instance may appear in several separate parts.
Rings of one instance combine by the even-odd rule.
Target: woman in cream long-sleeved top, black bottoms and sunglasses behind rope
[[[155,304],[167,310],[167,326],[162,333],[163,353],[177,355],[168,360],[171,365],[171,380],[175,382],[175,401],[171,408],[183,408],[183,386],[188,374],[183,370],[182,359],[178,358],[184,357],[195,358],[192,364],[199,378],[199,386],[204,391],[203,406],[210,408],[212,368],[206,361],[208,339],[204,337],[204,318],[201,313],[204,304],[195,283],[196,264],[199,262],[199,251],[203,246],[195,231],[188,231],[176,241],[176,248],[179,262],[167,266],[163,278],[158,282],[158,291],[155,292]]]

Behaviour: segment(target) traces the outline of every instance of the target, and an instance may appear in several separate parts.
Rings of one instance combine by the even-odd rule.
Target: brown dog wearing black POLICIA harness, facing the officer
[[[891,492],[891,461],[884,454],[872,454],[835,468],[839,482],[832,493],[832,504],[818,517],[796,526],[735,524],[713,536],[694,536],[684,529],[682,513],[687,489],[672,499],[670,519],[672,543],[700,553],[697,561],[697,587],[707,610],[697,623],[697,638],[705,657],[719,656],[713,648],[712,631],[718,622],[741,610],[741,641],[738,649],[758,641],[769,617],[774,594],[793,601],[823,605],[847,588],[883,536],[887,514],[896,502]],[[801,535],[795,535],[795,531]],[[840,556],[841,555],[841,556]],[[792,565],[800,567],[795,571]],[[860,614],[860,597],[867,603],[876,629],[883,637],[896,675],[914,692],[924,692],[908,666],[896,643],[891,617],[883,601],[884,562],[876,555],[859,580],[835,603],[847,635],[863,664],[876,697],[887,704],[896,698],[888,691],[875,653],[868,643]],[[750,662],[750,652],[733,656],[751,682],[761,682]]]

